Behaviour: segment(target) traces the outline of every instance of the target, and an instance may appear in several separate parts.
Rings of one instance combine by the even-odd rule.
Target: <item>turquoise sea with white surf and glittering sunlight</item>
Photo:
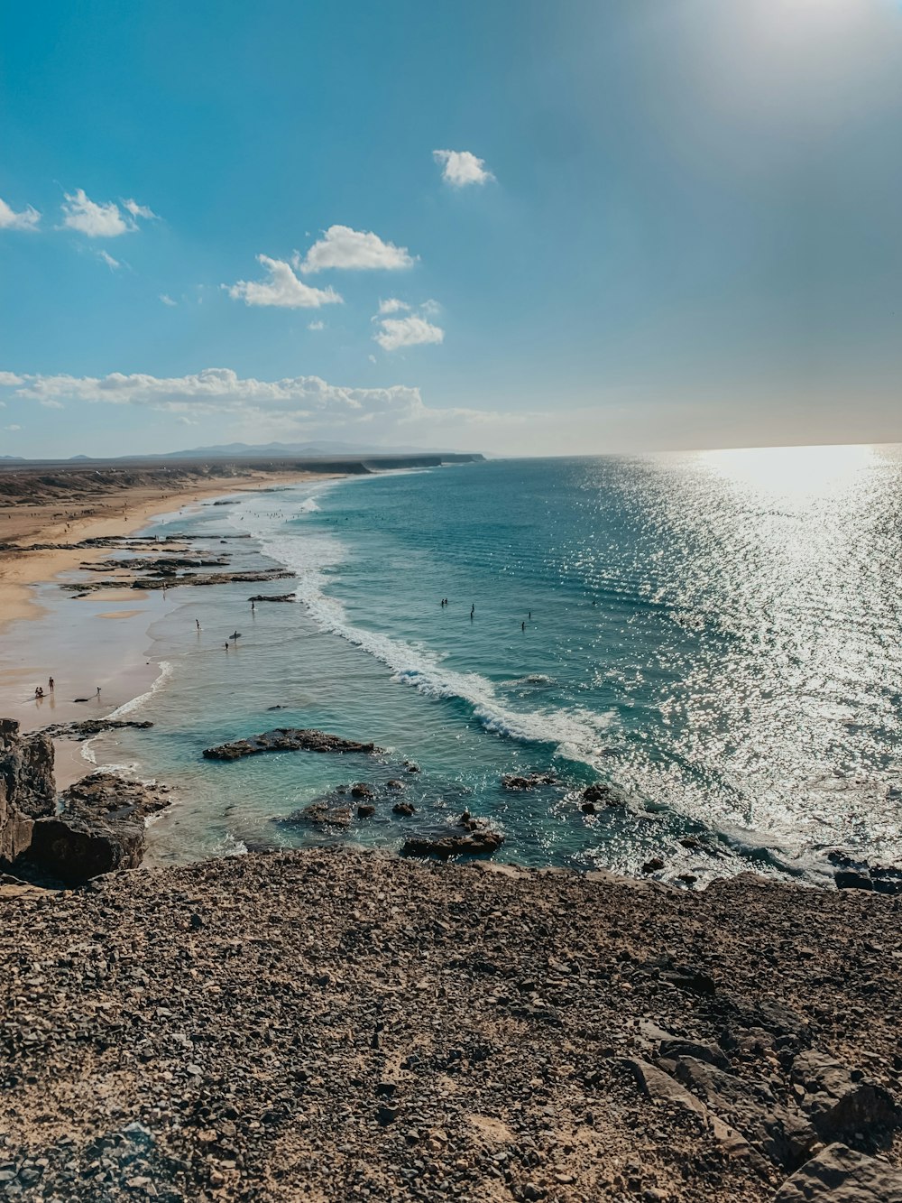
[[[897,448],[465,464],[178,526],[250,535],[236,565],[296,576],[184,591],[150,630],[168,668],[132,710],[156,725],[97,749],[176,784],[160,861],[340,837],[279,819],[404,759],[419,813],[380,804],[344,838],[397,847],[465,806],[530,865],[640,872],[660,855],[665,878],[817,881],[830,847],[902,852]],[[297,604],[251,615],[251,593],[285,591]],[[388,752],[201,758],[277,725]],[[556,784],[500,784],[547,770]],[[599,780],[625,811],[582,814]]]

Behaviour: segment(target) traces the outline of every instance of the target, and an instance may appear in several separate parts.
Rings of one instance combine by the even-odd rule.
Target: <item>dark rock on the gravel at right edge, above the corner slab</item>
[[[849,1139],[874,1127],[894,1130],[902,1124],[889,1091],[824,1053],[800,1053],[793,1061],[793,1079],[805,1089],[801,1106],[824,1140]]]

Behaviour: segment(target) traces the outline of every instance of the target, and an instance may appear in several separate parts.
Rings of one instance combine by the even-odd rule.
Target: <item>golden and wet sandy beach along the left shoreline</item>
[[[334,473],[254,472],[204,475],[189,487],[173,490],[142,482],[133,487],[100,479],[95,496],[78,502],[53,497],[36,504],[2,504],[0,498],[0,712],[16,718],[25,731],[108,715],[146,693],[159,675],[147,658],[147,630],[153,621],[184,598],[162,591],[105,589],[83,599],[60,617],[58,579],[96,563],[111,549],[85,549],[85,539],[136,534],[162,515],[213,498],[291,484],[311,484]],[[112,476],[112,474],[111,474]],[[36,487],[36,486],[35,486]],[[26,494],[30,498],[30,494]],[[63,546],[30,551],[31,544]],[[123,603],[127,602],[127,608]],[[75,609],[77,608],[77,609]],[[102,618],[103,622],[95,622]],[[28,621],[25,621],[28,620]],[[53,676],[55,688],[49,691]],[[44,697],[35,698],[41,686]],[[96,694],[101,687],[100,697]],[[87,699],[76,701],[76,699]],[[78,748],[58,761],[61,784],[90,771]]]

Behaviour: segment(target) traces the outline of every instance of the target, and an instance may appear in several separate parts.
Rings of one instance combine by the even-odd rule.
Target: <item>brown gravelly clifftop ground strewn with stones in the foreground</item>
[[[902,1199],[902,899],[375,854],[0,888],[0,1197]]]

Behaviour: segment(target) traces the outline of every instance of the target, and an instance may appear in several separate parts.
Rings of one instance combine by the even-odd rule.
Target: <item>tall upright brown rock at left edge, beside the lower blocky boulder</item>
[[[53,742],[43,734],[20,735],[14,719],[0,719],[0,865],[28,848],[34,820],[55,806]]]

